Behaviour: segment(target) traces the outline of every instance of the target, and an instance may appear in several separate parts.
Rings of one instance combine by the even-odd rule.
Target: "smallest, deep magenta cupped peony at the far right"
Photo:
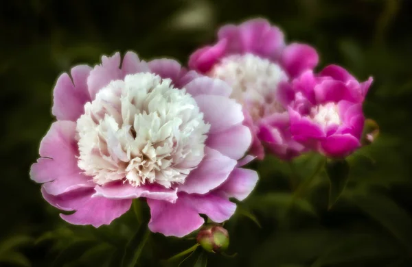
[[[362,103],[373,79],[359,83],[340,66],[314,75],[306,71],[292,83],[290,131],[295,140],[329,157],[345,157],[361,147]]]

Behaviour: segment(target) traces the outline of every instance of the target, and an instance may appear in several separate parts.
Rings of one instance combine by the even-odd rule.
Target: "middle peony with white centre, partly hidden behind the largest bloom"
[[[231,98],[242,104],[245,123],[252,132],[251,153],[262,159],[263,144],[288,159],[304,149],[290,138],[287,107],[293,96],[287,83],[318,63],[307,44],[286,45],[282,31],[258,18],[240,25],[225,25],[218,41],[195,51],[190,68],[226,81]]]

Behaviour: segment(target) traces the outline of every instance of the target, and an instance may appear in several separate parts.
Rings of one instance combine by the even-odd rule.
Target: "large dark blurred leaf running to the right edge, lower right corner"
[[[412,252],[412,218],[407,211],[384,194],[352,192],[350,197]]]

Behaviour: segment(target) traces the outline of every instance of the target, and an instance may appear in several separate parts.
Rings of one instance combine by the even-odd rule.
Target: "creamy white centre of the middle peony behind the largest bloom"
[[[267,59],[251,53],[229,55],[211,69],[209,76],[226,81],[233,88],[231,97],[242,103],[253,118],[284,112],[275,93],[288,75]]]

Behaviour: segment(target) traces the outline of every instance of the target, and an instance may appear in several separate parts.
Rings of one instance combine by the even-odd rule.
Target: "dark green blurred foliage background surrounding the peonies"
[[[53,120],[52,89],[74,64],[94,65],[115,51],[185,64],[220,25],[256,16],[279,25],[288,40],[316,47],[320,67],[341,64],[362,80],[373,75],[365,114],[380,125],[380,137],[348,159],[349,183],[331,209],[325,173],[311,177],[319,157],[252,164],[258,187],[225,224],[228,254],[238,254],[209,254],[208,266],[412,266],[411,2],[1,1],[0,266],[177,266],[164,259],[194,239],[152,234],[138,253],[144,203],[93,229],[68,225],[43,200],[28,173]],[[200,251],[181,266],[194,266]]]

